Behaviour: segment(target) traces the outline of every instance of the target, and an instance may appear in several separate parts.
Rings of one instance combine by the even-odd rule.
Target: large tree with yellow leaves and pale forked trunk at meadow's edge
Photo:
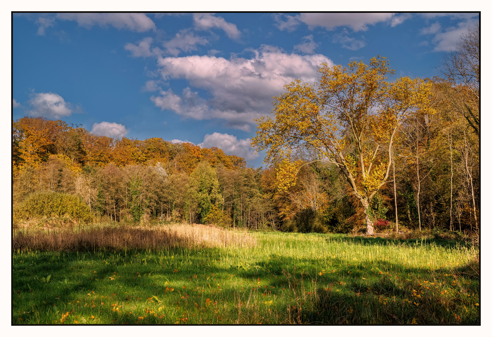
[[[369,65],[351,62],[348,67],[322,64],[318,80],[287,84],[274,97],[274,118],[262,116],[252,145],[267,150],[265,164],[283,158],[277,170],[279,188],[295,184],[302,165],[295,151],[306,143],[319,160],[333,163],[346,178],[366,213],[367,233],[374,233],[371,200],[388,181],[395,136],[412,114],[430,114],[431,84],[393,74],[386,58]]]

